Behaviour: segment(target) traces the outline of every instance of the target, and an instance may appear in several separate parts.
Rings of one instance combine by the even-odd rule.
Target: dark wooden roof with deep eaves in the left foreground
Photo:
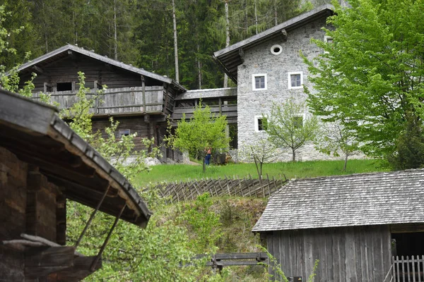
[[[151,216],[128,180],[74,133],[57,109],[0,89],[0,146],[37,166],[71,200],[146,226]]]

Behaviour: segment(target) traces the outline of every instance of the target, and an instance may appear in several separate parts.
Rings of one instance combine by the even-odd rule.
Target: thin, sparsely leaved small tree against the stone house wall
[[[302,118],[305,112],[305,104],[295,102],[292,97],[283,105],[274,103],[268,117],[266,133],[269,135],[269,141],[276,147],[290,148],[293,161],[296,150],[306,142],[313,141],[319,130],[318,118],[316,116]]]

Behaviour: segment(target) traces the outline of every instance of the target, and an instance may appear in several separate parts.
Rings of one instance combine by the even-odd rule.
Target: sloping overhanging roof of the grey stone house
[[[242,56],[240,56],[240,50],[248,49],[254,47],[262,42],[265,42],[269,39],[283,36],[282,32],[289,32],[290,30],[295,30],[296,28],[305,25],[307,23],[316,20],[317,18],[328,17],[333,14],[334,6],[330,4],[324,4],[313,10],[302,13],[295,18],[286,20],[284,23],[276,25],[269,28],[263,32],[258,33],[252,37],[249,37],[245,40],[232,44],[229,47],[221,49],[213,53],[213,58],[218,61],[220,66],[223,68],[224,72],[227,73],[228,77],[232,81],[237,83],[237,66],[243,63]]]

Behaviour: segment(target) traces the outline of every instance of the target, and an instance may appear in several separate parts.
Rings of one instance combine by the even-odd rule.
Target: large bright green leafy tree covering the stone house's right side
[[[314,39],[326,51],[309,64],[309,105],[325,121],[351,130],[365,154],[393,154],[407,122],[422,118],[424,100],[423,1],[336,2],[325,30],[333,44]]]

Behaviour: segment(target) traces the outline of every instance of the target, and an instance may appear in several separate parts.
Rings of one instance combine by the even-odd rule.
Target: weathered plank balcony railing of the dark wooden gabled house
[[[87,93],[88,99],[93,99],[98,91],[97,82]],[[76,103],[77,91],[47,92],[51,95],[52,102],[57,102],[60,109],[68,109]],[[91,114],[120,114],[120,113],[159,113],[163,111],[165,103],[165,93],[163,86],[145,87],[124,87],[107,88],[103,94],[95,99]],[[33,99],[39,100],[40,94],[34,93]]]

